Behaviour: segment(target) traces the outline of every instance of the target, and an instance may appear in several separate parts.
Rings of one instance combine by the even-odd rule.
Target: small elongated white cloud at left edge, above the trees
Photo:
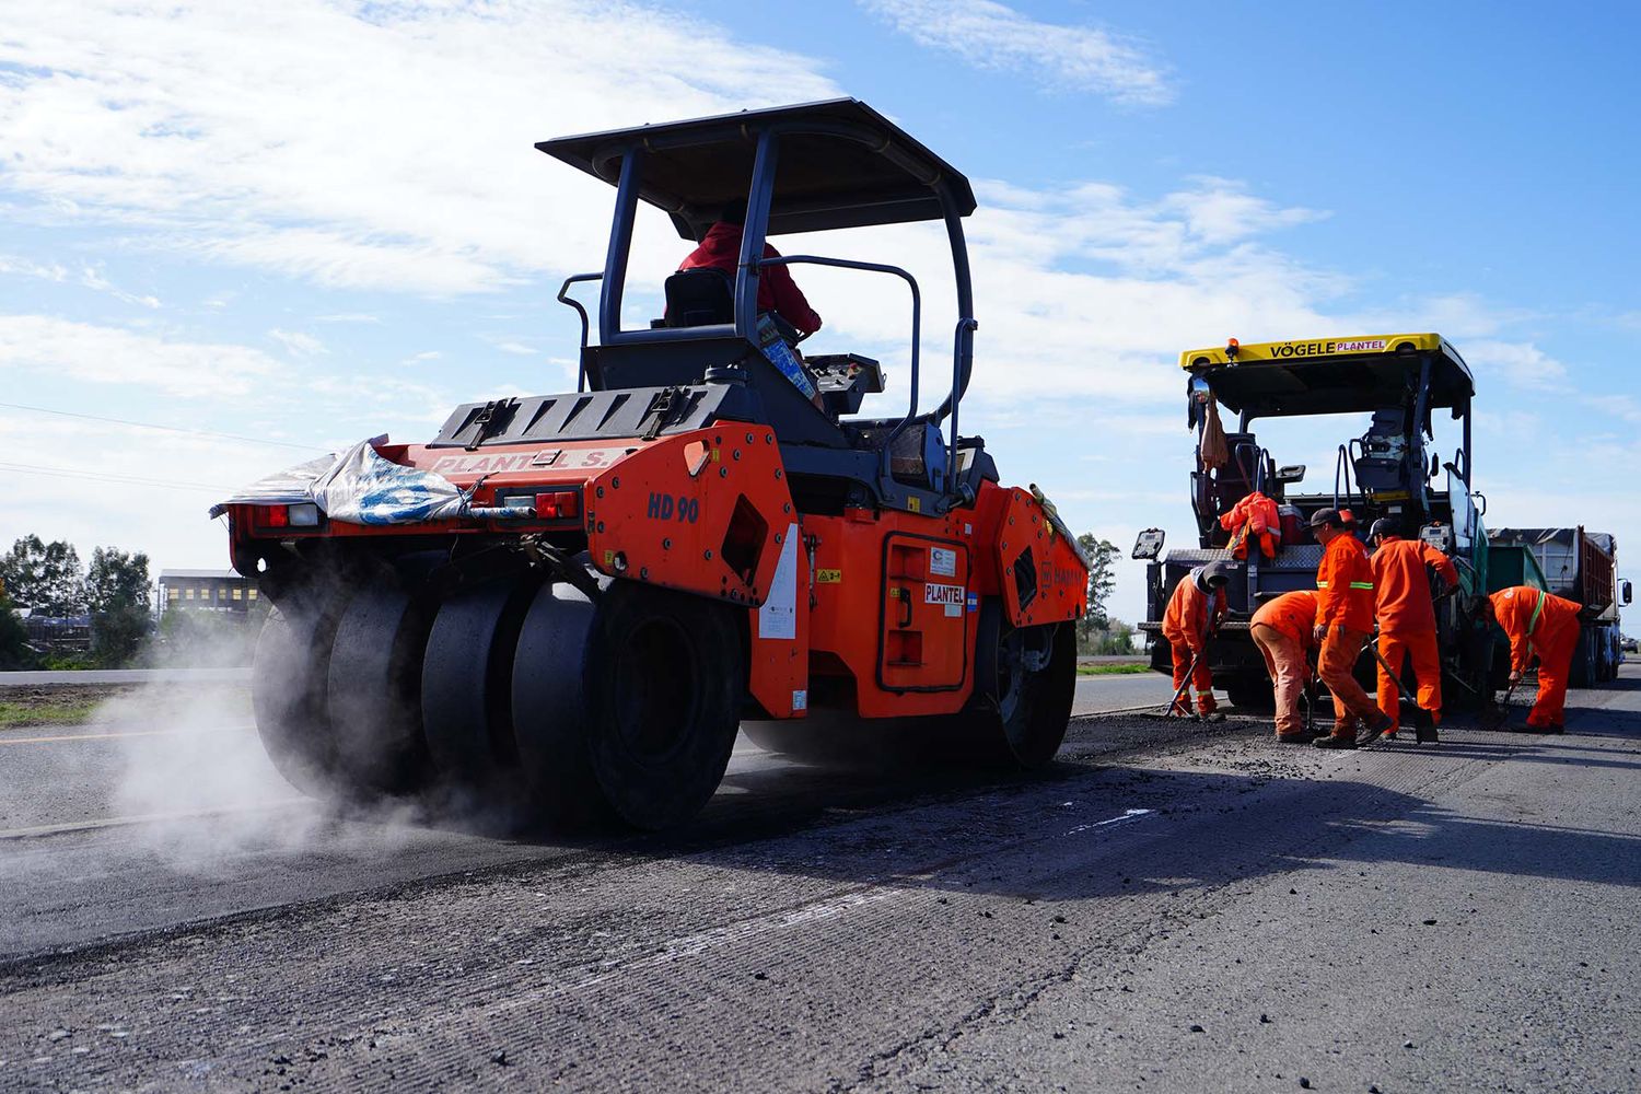
[[[279,361],[246,346],[167,341],[46,315],[0,315],[0,367],[151,387],[185,399],[248,395],[286,372]]]

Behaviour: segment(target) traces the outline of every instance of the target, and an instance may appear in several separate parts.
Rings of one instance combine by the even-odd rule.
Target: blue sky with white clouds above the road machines
[[[1188,538],[1180,349],[1439,330],[1477,374],[1488,522],[1641,551],[1631,5],[62,11],[0,0],[0,545],[222,566],[205,507],[226,489],[565,389],[576,335],[551,295],[601,262],[609,194],[530,144],[848,93],[975,180],[965,431],[1078,530]],[[912,266],[944,340],[937,235],[781,246]],[[635,313],[681,251],[647,226]],[[817,344],[903,382],[903,302],[802,280]],[[1270,440],[1314,487],[1359,431]],[[1126,568],[1118,613],[1140,599]]]

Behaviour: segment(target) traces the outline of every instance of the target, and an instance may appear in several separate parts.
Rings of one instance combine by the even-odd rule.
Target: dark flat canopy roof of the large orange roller
[[[768,235],[940,220],[940,187],[953,212],[975,212],[968,179],[855,98],[743,110],[633,130],[542,141],[538,149],[615,182],[622,154],[645,151],[643,200],[699,239],[752,184],[758,134],[781,133]]]

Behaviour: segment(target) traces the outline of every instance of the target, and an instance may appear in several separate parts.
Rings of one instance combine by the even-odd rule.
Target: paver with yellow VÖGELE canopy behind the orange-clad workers
[[[1459,351],[1441,335],[1360,335],[1188,349],[1186,423],[1196,431],[1196,469],[1190,502],[1196,545],[1163,554],[1167,533],[1140,533],[1132,556],[1147,561],[1147,618],[1152,668],[1172,672],[1162,617],[1173,586],[1193,568],[1223,563],[1229,615],[1208,646],[1214,687],[1231,702],[1268,710],[1272,684],[1249,636],[1249,618],[1283,592],[1314,589],[1321,546],[1308,522],[1323,508],[1349,510],[1367,535],[1374,520],[1392,520],[1406,538],[1419,538],[1459,571],[1459,592],[1438,602],[1438,645],[1449,705],[1480,704],[1490,691],[1493,643],[1479,613],[1488,590],[1483,525],[1487,499],[1472,485],[1472,400],[1475,384]],[[1234,428],[1219,423],[1219,408],[1236,413]],[[1436,451],[1436,415],[1457,423],[1451,454]],[[1352,415],[1354,425],[1336,426]],[[1306,466],[1280,463],[1255,425],[1273,418],[1324,420],[1337,443],[1331,485],[1301,492]],[[1349,431],[1346,431],[1349,430]],[[1223,438],[1223,444],[1219,443]],[[1204,448],[1204,440],[1209,444]],[[1444,458],[1446,456],[1446,458]],[[1326,472],[1324,472],[1326,474]],[[1277,504],[1280,549],[1265,558],[1255,546],[1246,558],[1231,549],[1226,517],[1254,492]],[[1359,672],[1372,687],[1372,661]]]

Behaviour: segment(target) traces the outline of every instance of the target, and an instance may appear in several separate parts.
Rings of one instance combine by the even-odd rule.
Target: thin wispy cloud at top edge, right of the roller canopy
[[[993,0],[860,0],[919,46],[1022,72],[1052,90],[1155,107],[1173,98],[1163,66],[1090,26],[1042,23]]]

